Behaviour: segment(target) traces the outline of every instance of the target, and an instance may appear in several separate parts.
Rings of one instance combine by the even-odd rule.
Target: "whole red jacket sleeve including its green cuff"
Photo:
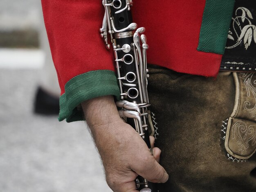
[[[120,94],[112,51],[99,34],[105,10],[98,0],[42,0],[42,6],[61,87],[58,119],[84,120],[81,102]]]

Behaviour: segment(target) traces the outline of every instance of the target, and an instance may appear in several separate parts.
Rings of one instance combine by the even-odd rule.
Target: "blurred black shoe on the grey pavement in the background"
[[[34,113],[56,115],[59,110],[59,98],[49,94],[41,87],[38,87],[34,102]]]

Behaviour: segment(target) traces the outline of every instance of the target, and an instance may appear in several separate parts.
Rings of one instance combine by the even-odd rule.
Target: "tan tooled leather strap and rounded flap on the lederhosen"
[[[227,124],[225,148],[237,159],[248,159],[256,152],[256,76],[233,73],[236,100]]]

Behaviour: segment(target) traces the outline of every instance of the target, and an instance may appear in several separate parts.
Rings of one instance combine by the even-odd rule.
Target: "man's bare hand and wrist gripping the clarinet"
[[[122,121],[112,96],[82,103],[85,119],[101,155],[106,181],[114,192],[138,192],[134,180],[141,175],[153,183],[164,183],[168,174],[157,163],[161,151],[151,155],[141,136]],[[154,139],[150,138],[153,145]],[[152,146],[153,147],[153,146]]]

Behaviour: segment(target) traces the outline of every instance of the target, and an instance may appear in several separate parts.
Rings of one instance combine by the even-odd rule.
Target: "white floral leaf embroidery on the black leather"
[[[256,43],[256,26],[252,25],[252,13],[245,7],[238,7],[236,9],[236,17],[232,18],[232,30],[236,33],[233,36],[231,30],[229,30],[227,38],[236,41],[234,45],[226,47],[226,49],[233,49],[244,42],[245,49],[252,43],[252,39]]]

